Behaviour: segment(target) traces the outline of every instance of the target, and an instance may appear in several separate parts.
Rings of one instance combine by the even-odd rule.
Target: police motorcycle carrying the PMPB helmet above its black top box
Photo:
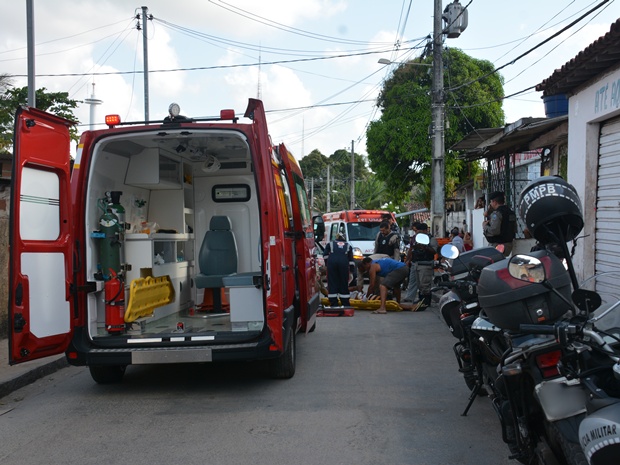
[[[472,323],[472,340],[486,361],[495,357],[497,364],[493,370],[484,367],[489,376],[478,384],[492,400],[511,458],[524,464],[585,465],[578,436],[584,391],[558,368],[565,347],[537,330],[580,318],[582,310],[571,301],[572,289],[577,296],[580,291],[567,242],[583,228],[581,201],[566,181],[545,176],[525,187],[518,209],[540,250],[480,273],[481,310]]]

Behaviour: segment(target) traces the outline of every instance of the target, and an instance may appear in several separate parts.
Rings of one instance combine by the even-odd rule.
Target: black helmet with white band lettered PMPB
[[[583,229],[581,200],[575,188],[558,176],[530,182],[519,198],[519,215],[538,241],[573,240]]]

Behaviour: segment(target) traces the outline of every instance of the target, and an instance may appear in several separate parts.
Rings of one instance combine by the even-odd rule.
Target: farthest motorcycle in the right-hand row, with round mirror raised
[[[433,288],[434,292],[446,291],[439,299],[439,311],[452,335],[458,339],[452,350],[465,384],[470,391],[475,390],[475,394],[484,395],[485,392],[481,390],[484,383],[480,373],[480,359],[485,357],[485,352],[478,351],[477,345],[472,343],[471,325],[480,313],[477,292],[480,273],[484,267],[504,260],[505,257],[493,247],[460,254],[452,244],[445,244],[440,254],[448,262],[443,262],[446,272],[441,276],[442,279],[435,281]],[[493,364],[487,366],[492,367]]]

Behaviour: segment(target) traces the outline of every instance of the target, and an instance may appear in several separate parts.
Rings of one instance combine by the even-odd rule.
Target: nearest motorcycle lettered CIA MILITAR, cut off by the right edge
[[[536,258],[517,255],[508,270],[515,278],[554,289]],[[619,277],[618,272],[608,272],[595,278],[616,286]],[[559,376],[539,383],[536,397],[549,429],[565,454],[570,454],[567,463],[587,460],[591,465],[610,465],[620,461],[620,300],[605,293],[604,284],[592,288],[602,291],[582,285],[573,292],[579,311],[572,319],[554,325],[522,324],[520,330],[550,337],[560,349],[555,364]],[[518,359],[516,355],[509,363],[514,365]],[[566,429],[565,419],[572,429]]]

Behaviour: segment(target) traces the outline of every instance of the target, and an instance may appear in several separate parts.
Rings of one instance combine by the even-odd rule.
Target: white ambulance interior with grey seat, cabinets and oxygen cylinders
[[[243,133],[107,137],[93,152],[86,205],[87,278],[98,283],[91,337],[193,341],[263,329],[258,195]],[[203,248],[208,232],[220,242]],[[234,240],[222,245],[222,235]]]

